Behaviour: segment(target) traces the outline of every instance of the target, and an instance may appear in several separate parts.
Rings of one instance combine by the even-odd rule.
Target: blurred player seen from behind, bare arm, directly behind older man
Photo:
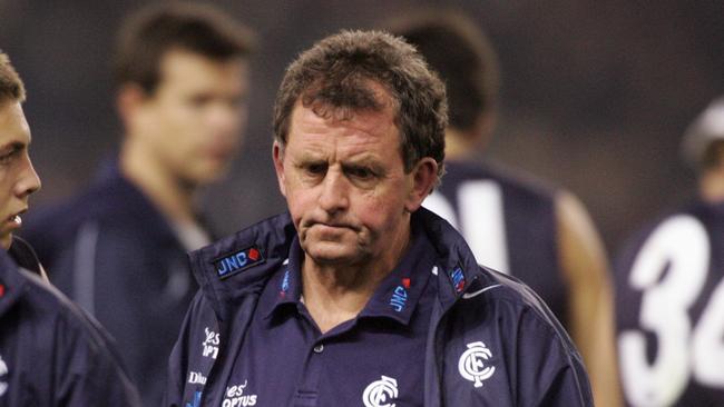
[[[493,131],[499,71],[487,36],[466,16],[425,9],[385,24],[446,82],[450,122],[441,187],[423,206],[466,237],[482,265],[538,292],[580,349],[596,404],[620,405],[610,276],[603,242],[581,202],[482,160]]]

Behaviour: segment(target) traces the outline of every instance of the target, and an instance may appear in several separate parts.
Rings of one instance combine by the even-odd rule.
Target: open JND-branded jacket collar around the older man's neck
[[[464,292],[497,281],[481,271],[460,234],[444,219],[420,208],[412,215],[436,250],[438,297],[448,308]],[[221,320],[247,294],[258,295],[268,278],[288,258],[296,229],[287,212],[263,220],[189,254],[192,270]]]

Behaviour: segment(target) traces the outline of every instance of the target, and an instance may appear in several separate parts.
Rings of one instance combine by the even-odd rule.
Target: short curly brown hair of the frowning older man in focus
[[[381,86],[387,96],[375,92]],[[297,101],[321,117],[350,119],[355,111],[392,105],[405,171],[424,157],[444,172],[448,103],[444,85],[402,38],[344,30],[316,42],[286,69],[274,106],[274,137],[286,143]]]

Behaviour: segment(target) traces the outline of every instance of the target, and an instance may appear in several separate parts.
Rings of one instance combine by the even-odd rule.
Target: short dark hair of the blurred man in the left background
[[[150,4],[124,20],[114,58],[116,83],[136,83],[153,92],[160,64],[169,51],[180,50],[225,61],[248,56],[253,32],[211,4]]]

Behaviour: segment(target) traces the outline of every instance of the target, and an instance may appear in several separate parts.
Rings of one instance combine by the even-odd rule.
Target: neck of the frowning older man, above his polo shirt
[[[320,265],[305,255],[302,265],[304,304],[324,334],[355,318],[380,282],[392,271],[408,249],[410,230],[400,232],[383,258],[364,265]]]

